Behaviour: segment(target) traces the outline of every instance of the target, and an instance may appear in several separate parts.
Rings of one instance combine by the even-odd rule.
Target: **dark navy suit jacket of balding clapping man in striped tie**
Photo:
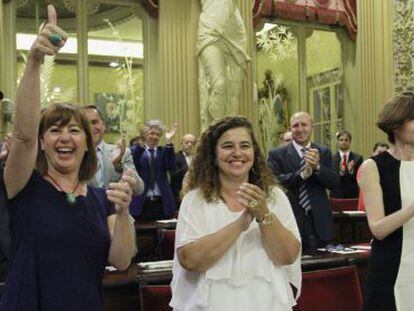
[[[301,158],[293,143],[275,148],[269,152],[268,164],[279,182],[287,189],[286,195],[292,205],[293,213],[303,236],[303,219],[305,213],[299,205],[299,186],[306,184],[312,207],[312,218],[315,232],[322,241],[334,237],[332,210],[328,202],[326,188],[333,189],[338,185],[338,174],[332,166],[331,151],[323,146],[312,143],[311,148],[319,150],[320,169],[308,179],[300,176]]]

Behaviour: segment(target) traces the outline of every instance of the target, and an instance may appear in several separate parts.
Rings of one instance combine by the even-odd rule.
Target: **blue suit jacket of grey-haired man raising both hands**
[[[138,196],[136,206],[132,209],[133,216],[139,216],[142,213],[145,198],[149,190],[150,182],[150,158],[148,152],[142,146],[135,146],[131,149],[132,158],[134,160],[135,168],[138,174],[144,181],[144,192]],[[168,182],[167,172],[171,173],[175,169],[175,154],[173,145],[166,145],[165,147],[157,147],[155,158],[156,163],[156,177],[155,181],[161,191],[162,205],[164,214],[166,216],[174,216],[177,210],[174,195]]]

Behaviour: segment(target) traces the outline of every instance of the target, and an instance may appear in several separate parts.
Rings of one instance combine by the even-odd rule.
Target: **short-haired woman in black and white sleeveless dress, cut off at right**
[[[393,97],[377,126],[391,148],[361,166],[360,187],[374,237],[364,286],[364,310],[414,306],[414,93]]]

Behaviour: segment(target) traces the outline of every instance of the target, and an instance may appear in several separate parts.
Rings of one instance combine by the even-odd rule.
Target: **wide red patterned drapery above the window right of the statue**
[[[338,2],[337,2],[338,1]],[[253,0],[253,24],[261,27],[263,18],[345,26],[352,40],[357,35],[356,0]]]

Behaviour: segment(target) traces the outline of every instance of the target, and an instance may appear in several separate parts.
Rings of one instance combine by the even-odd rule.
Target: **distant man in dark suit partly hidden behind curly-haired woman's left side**
[[[181,139],[181,150],[175,154],[175,170],[171,174],[171,187],[173,189],[177,207],[180,206],[180,192],[183,186],[184,176],[191,163],[196,137],[193,134],[185,134]]]

